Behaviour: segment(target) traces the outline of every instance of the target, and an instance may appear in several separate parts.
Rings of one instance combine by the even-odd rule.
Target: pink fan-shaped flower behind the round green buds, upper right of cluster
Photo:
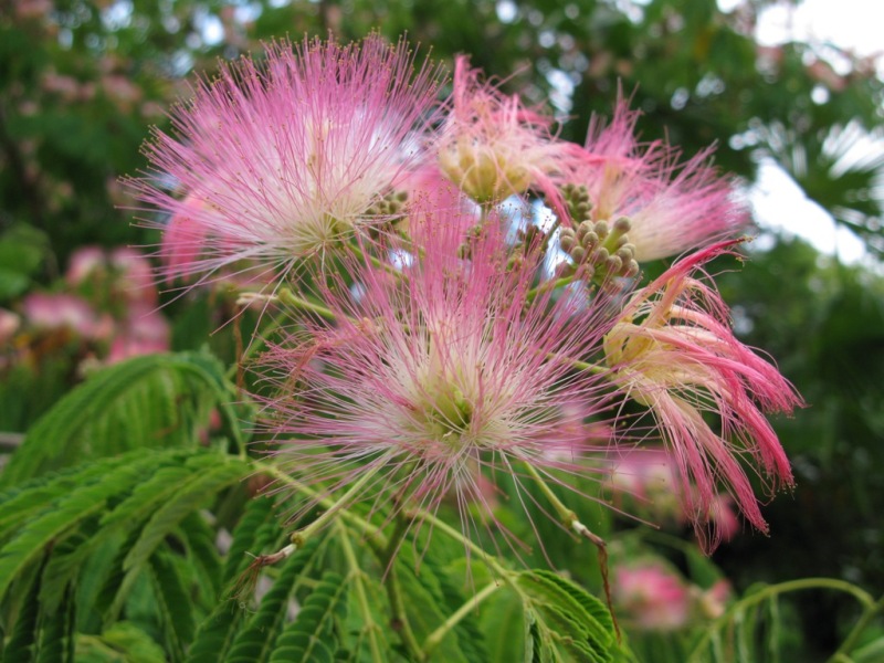
[[[572,182],[583,185],[592,221],[627,217],[634,257],[646,262],[734,236],[749,222],[733,182],[708,166],[712,149],[684,164],[663,143],[641,145],[639,113],[620,102],[610,125],[590,123],[586,149],[572,152]]]

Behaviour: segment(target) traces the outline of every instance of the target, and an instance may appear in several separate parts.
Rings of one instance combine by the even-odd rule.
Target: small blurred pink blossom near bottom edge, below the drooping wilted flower
[[[675,631],[687,624],[691,593],[677,576],[659,564],[617,568],[612,589],[614,603],[639,629]]]

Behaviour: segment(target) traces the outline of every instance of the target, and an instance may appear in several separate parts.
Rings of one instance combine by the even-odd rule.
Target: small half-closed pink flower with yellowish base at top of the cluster
[[[480,203],[501,202],[535,187],[561,208],[562,155],[577,146],[551,135],[551,118],[481,82],[465,56],[455,62],[448,109],[436,139],[439,165],[464,193]]]

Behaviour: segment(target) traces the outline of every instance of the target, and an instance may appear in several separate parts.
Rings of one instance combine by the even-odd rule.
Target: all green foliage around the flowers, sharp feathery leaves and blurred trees
[[[507,90],[538,103],[552,92],[558,117],[579,115],[561,126],[572,139],[591,112],[610,115],[622,90],[644,113],[644,139],[667,136],[687,155],[717,141],[719,167],[748,181],[772,160],[880,255],[882,158],[869,135],[881,130],[884,86],[874,63],[820,44],[760,46],[753,29],[769,3],[724,13],[714,0],[12,2],[0,15],[0,306],[20,312],[27,293],[66,287],[61,275],[83,244],[155,244],[129,224],[134,202],[117,182],[144,167],[147,125],[165,128],[162,109],[189,94],[186,76],[211,73],[215,56],[305,32],[408,31],[445,62],[473,53],[476,66],[515,72]],[[848,69],[835,71],[833,57]],[[863,148],[871,155],[855,159]],[[813,661],[838,650],[842,661],[878,660],[881,603],[857,585],[884,588],[884,286],[798,242],[755,252],[719,283],[743,339],[776,357],[812,406],[777,422],[798,488],[766,507],[774,536],[737,537],[713,564],[692,541],[641,534],[601,507],[582,515],[614,541],[612,569],[664,559],[693,610],[730,579],[737,596],[720,614],[649,632],[620,609],[618,636],[597,598],[594,550],[539,504],[526,505],[530,525],[517,520],[506,506],[515,490],[503,495],[502,523],[523,537],[535,528],[544,544],[522,561],[492,558],[494,572],[439,529],[432,554],[417,552],[422,535],[409,533],[390,562],[378,541],[397,524],[380,518],[372,534],[360,519],[370,514],[356,512],[262,566],[253,556],[278,550],[296,526],[280,517],[293,505],[285,491],[263,494],[281,477],[243,451],[254,406],[230,404],[251,377],[234,380],[218,359],[234,355],[254,316],[224,326],[235,309],[223,291],[171,292],[175,354],[94,370],[92,349],[67,333],[9,340],[0,330],[0,428],[28,430],[0,472],[0,657],[403,661],[421,651],[653,663]],[[209,334],[212,351],[198,350]],[[36,359],[8,360],[22,346]]]

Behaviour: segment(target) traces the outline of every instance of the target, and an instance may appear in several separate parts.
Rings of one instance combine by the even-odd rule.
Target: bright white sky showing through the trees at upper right
[[[739,0],[718,0],[729,11]],[[804,41],[825,49],[833,44],[866,56],[884,53],[884,0],[804,0],[798,7],[781,2],[765,10],[756,36],[765,45]],[[834,52],[827,57],[839,70]],[[884,57],[878,63],[884,75]],[[820,206],[808,200],[800,187],[778,166],[762,162],[750,200],[762,228],[800,235],[824,253],[845,263],[863,262],[863,243],[846,229],[839,229]]]

